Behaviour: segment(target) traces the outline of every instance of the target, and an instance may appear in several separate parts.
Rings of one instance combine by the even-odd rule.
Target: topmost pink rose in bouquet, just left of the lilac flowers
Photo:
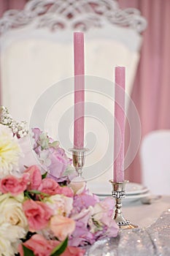
[[[29,173],[30,176],[30,185],[28,189],[38,189],[39,185],[42,182],[42,174],[39,170],[39,167],[36,165],[32,165],[26,169],[26,173]]]

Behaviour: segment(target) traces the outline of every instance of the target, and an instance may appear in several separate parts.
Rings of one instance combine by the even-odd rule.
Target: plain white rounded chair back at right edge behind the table
[[[142,140],[142,183],[155,195],[170,194],[170,129],[155,130]]]

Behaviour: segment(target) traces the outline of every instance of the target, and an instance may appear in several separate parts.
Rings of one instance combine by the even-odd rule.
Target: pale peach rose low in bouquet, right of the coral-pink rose
[[[75,222],[73,219],[55,215],[50,219],[50,230],[53,231],[54,235],[61,241],[66,239],[67,236],[71,235],[75,228]]]

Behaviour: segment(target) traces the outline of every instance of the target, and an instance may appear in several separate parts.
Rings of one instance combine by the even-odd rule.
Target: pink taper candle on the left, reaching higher
[[[84,146],[84,75],[84,34],[74,32],[74,148],[83,148]]]

